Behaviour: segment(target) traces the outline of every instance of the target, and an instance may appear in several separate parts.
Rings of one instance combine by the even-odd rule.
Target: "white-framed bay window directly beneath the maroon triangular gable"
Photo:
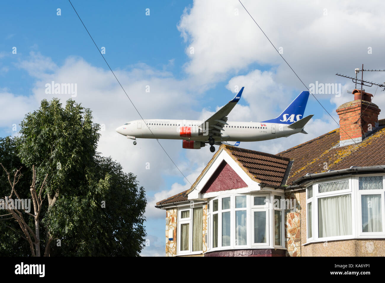
[[[283,198],[283,193],[224,195],[209,201],[208,250],[284,248],[283,207],[274,208],[274,198]]]

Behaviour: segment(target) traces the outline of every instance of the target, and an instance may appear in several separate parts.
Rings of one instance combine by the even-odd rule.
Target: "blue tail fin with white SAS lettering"
[[[262,121],[265,123],[292,124],[303,117],[306,103],[308,102],[309,92],[301,92],[290,105],[275,119]]]

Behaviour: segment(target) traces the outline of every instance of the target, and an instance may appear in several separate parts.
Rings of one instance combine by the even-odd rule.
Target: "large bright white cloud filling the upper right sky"
[[[283,57],[306,85],[315,80],[340,80],[336,72],[351,74],[361,62],[382,67],[378,62],[384,59],[385,3],[244,0],[243,4],[276,48],[282,47]],[[236,1],[195,0],[184,10],[177,27],[190,59],[185,70],[201,82],[223,80],[251,64],[268,64],[277,66],[277,81],[286,87],[303,88]],[[190,54],[190,47],[194,47],[194,54]],[[368,47],[373,54],[368,54]]]

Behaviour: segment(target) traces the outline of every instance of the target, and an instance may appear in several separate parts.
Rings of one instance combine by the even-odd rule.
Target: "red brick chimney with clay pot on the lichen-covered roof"
[[[360,89],[352,93],[354,100],[342,104],[336,110],[340,116],[340,146],[361,142],[378,127],[378,114],[381,110],[371,102],[373,95],[364,90],[361,94]]]

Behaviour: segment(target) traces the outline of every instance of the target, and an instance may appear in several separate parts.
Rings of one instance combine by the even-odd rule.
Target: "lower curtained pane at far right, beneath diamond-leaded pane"
[[[381,195],[361,196],[362,232],[382,232]]]

